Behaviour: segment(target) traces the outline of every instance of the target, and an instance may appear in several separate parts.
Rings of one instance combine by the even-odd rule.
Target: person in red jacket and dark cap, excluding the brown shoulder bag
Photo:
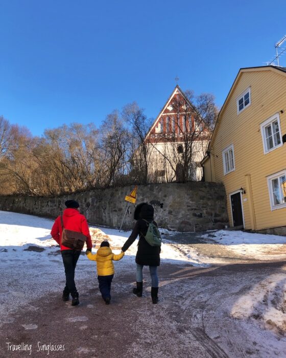
[[[64,228],[67,230],[73,230],[84,234],[86,236],[86,251],[91,252],[92,242],[89,234],[89,229],[85,216],[80,214],[79,212],[79,203],[76,202],[76,200],[67,200],[64,205],[66,206],[66,209],[64,210],[62,215]],[[67,248],[62,245],[62,226],[60,216],[58,216],[54,222],[51,235],[53,239],[56,240],[57,243],[60,245],[63,259],[66,282],[63,290],[62,299],[63,301],[68,301],[70,294],[73,298],[71,305],[76,306],[80,302],[79,294],[77,292],[75,284],[75,270],[81,252],[78,250]]]

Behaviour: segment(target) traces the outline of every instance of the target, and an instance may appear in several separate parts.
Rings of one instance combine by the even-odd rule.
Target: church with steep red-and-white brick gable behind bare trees
[[[196,108],[176,85],[146,136],[149,176],[156,182],[200,181],[209,138]]]

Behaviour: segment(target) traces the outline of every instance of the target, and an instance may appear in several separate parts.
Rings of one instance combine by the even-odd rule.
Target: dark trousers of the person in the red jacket
[[[75,284],[75,270],[80,253],[80,251],[76,250],[62,250],[61,252],[65,272],[64,292],[70,293],[72,297],[77,294],[77,288]]]

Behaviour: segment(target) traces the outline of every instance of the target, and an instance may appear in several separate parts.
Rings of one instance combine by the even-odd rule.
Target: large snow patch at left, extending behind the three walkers
[[[18,307],[29,306],[29,301],[54,290],[59,292],[64,286],[64,272],[59,247],[51,238],[53,220],[32,215],[0,211],[0,317],[5,322],[9,314]],[[108,235],[112,251],[120,253],[131,231],[119,232],[109,228],[90,227],[94,234],[93,243],[97,248],[104,234]],[[97,239],[94,240],[94,237]],[[134,265],[137,242],[131,245],[121,261],[115,262],[115,273],[128,270]],[[36,251],[34,251],[36,250]],[[42,250],[42,251],[40,251]],[[96,249],[93,249],[96,251]],[[200,265],[194,250],[194,258],[183,251],[176,250],[171,242],[162,243],[161,259],[172,264]],[[202,262],[202,266],[205,264]],[[87,273],[95,276],[96,264],[83,254],[77,264],[76,277],[86,278]],[[52,284],[51,284],[52,282]],[[6,318],[5,318],[6,317]],[[0,323],[1,323],[0,321]]]

